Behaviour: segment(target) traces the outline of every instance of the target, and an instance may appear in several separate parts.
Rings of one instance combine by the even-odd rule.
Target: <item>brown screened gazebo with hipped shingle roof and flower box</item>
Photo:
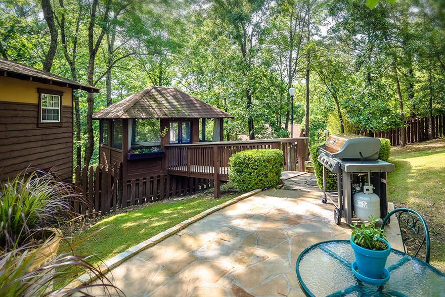
[[[99,163],[122,162],[123,180],[167,174],[165,146],[221,141],[224,118],[233,116],[176,88],[148,87],[93,114]]]

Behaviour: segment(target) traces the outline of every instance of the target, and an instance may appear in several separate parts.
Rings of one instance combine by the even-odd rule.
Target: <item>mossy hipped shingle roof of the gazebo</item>
[[[233,118],[172,87],[148,87],[93,114],[93,119]]]

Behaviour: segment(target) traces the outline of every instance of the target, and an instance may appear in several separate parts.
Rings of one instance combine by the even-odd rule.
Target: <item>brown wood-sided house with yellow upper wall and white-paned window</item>
[[[97,88],[0,58],[0,180],[28,167],[71,180],[73,90]]]

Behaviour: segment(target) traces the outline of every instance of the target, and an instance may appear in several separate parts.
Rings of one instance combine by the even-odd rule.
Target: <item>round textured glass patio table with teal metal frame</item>
[[[351,264],[355,261],[349,240],[317,243],[298,257],[298,282],[306,296],[445,297],[445,274],[400,250],[391,249],[386,262],[390,279],[380,286],[359,281]]]

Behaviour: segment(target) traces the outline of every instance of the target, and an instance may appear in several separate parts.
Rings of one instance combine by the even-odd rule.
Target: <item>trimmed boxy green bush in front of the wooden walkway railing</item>
[[[282,166],[280,149],[243,150],[229,159],[229,181],[242,192],[276,187]]]

